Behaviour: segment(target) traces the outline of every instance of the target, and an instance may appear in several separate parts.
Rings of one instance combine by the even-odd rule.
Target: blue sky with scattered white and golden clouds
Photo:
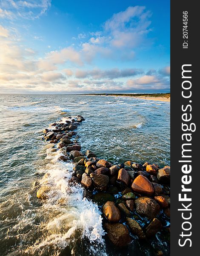
[[[170,0],[0,0],[0,93],[170,91]]]

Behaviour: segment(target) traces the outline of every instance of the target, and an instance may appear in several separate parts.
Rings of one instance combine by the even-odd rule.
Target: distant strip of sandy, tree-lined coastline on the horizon
[[[78,93],[78,95],[134,97],[137,99],[170,102],[170,93]]]

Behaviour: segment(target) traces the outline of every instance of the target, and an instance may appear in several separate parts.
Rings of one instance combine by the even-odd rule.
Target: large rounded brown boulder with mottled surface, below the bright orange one
[[[152,198],[140,197],[134,201],[136,212],[149,219],[153,219],[160,212],[160,205]]]

